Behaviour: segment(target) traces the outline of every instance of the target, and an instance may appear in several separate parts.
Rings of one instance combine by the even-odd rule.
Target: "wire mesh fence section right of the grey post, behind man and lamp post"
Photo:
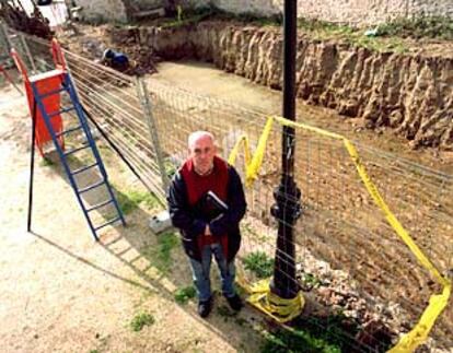
[[[256,146],[266,121],[259,111],[175,90],[152,80],[150,91],[154,94],[160,134],[172,137],[165,139],[163,149],[170,152],[175,167],[182,162],[185,137],[190,131],[213,131],[225,156],[242,133],[246,133],[252,146]],[[256,251],[268,258],[276,254],[276,221],[269,209],[275,203],[272,190],[280,176],[280,127],[272,129],[268,141],[259,179],[247,191],[243,259]],[[414,327],[439,286],[381,214],[341,141],[302,130],[297,130],[297,141],[295,179],[302,189],[303,203],[303,216],[297,224],[294,239],[300,264],[298,278],[328,283],[335,279],[328,271],[326,273],[326,267],[332,272],[341,271],[340,278],[346,276],[346,280],[330,287],[332,292],[337,292],[335,301],[347,301],[351,293],[357,293],[358,297],[365,298],[363,305],[367,306],[359,313],[353,309],[353,304],[348,306],[346,303],[346,311],[361,315],[361,321],[370,320],[365,316],[372,314],[385,317],[385,322],[396,331],[402,327]],[[390,208],[407,225],[409,234],[438,269],[446,273],[452,264],[449,240],[452,230],[451,176],[357,145]],[[284,254],[277,252],[276,256],[284,261]],[[345,287],[344,293],[338,293],[338,285]],[[326,285],[321,287],[325,293]],[[332,297],[317,297],[326,305],[332,302]],[[444,313],[442,322],[437,327],[437,338],[449,344],[446,338],[453,332],[451,309]]]

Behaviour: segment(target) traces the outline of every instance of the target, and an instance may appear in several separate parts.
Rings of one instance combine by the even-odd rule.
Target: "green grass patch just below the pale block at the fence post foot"
[[[174,232],[165,232],[158,236],[158,244],[148,247],[143,255],[159,271],[167,273],[173,266],[172,250],[178,245],[179,237]]]

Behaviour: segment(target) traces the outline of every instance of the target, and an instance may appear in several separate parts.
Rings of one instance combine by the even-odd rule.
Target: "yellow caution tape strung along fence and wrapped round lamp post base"
[[[240,144],[242,141],[244,141],[246,185],[247,186],[249,186],[257,178],[258,169],[263,163],[264,153],[266,149],[266,142],[269,137],[274,119],[277,120],[279,123],[281,123],[282,126],[301,128],[306,131],[311,131],[311,132],[314,132],[314,133],[317,133],[317,134],[321,134],[327,138],[342,141],[352,162],[356,165],[358,174],[361,180],[363,181],[367,188],[367,191],[373,199],[374,203],[384,213],[385,219],[388,222],[388,224],[393,227],[395,233],[403,239],[403,242],[407,245],[407,247],[413,251],[413,254],[416,256],[418,261],[443,286],[441,294],[431,295],[428,307],[425,309],[423,314],[421,315],[420,320],[414,327],[414,329],[407,334],[403,336],[399,342],[392,350],[388,351],[391,353],[414,352],[418,345],[420,345],[421,343],[426,341],[437,318],[448,305],[449,297],[451,294],[451,287],[452,287],[451,281],[443,278],[440,274],[440,272],[434,267],[434,264],[425,256],[425,254],[417,246],[417,244],[414,242],[414,239],[410,237],[407,231],[403,227],[403,225],[399,223],[396,216],[392,213],[388,205],[385,203],[384,199],[381,197],[376,186],[371,181],[371,178],[367,174],[367,170],[359,157],[359,153],[357,152],[357,149],[353,146],[353,144],[348,139],[346,139],[345,137],[338,133],[328,132],[323,129],[311,127],[305,123],[291,121],[282,117],[268,118],[266,122],[266,127],[262,133],[262,137],[259,138],[258,146],[255,151],[255,154],[252,161],[251,161],[248,140],[246,136],[241,137],[241,139],[237,141],[229,158],[229,162],[231,164],[234,164],[235,157],[240,149]],[[293,318],[297,315],[299,315],[304,305],[302,296],[301,297],[298,296],[297,298],[291,299],[290,302],[284,302],[284,299],[276,298],[275,295],[271,294],[269,291],[268,280],[266,282],[258,282],[256,285],[252,285],[252,286],[245,285],[244,287],[246,287],[246,290],[248,290],[248,292],[252,294],[248,301],[253,305],[255,305],[263,311],[267,313],[268,315],[270,315],[272,318],[275,318],[276,320],[280,322],[284,322],[283,320],[290,320],[290,319],[287,319],[287,317]],[[279,301],[283,301],[283,302],[279,302]],[[289,314],[288,313],[289,309],[293,309],[294,315]]]

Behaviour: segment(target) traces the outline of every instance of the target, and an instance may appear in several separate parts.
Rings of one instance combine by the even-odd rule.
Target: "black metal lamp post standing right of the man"
[[[295,121],[297,0],[284,0],[283,42],[283,117]],[[271,214],[278,220],[274,280],[270,290],[281,298],[293,298],[300,289],[295,280],[293,226],[300,216],[301,191],[294,183],[294,128],[283,127],[282,175],[275,189]]]

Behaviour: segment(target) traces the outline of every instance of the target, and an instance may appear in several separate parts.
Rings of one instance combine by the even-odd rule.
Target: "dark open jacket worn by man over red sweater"
[[[246,202],[244,189],[237,172],[231,165],[228,166],[226,204],[229,211],[222,216],[209,223],[212,235],[228,235],[228,261],[231,261],[239,251],[241,245],[240,221],[245,214]],[[175,227],[179,228],[183,245],[186,254],[198,261],[201,261],[200,249],[197,237],[202,236],[206,228],[206,221],[195,214],[194,208],[188,204],[187,186],[178,170],[170,185],[167,201],[170,217]]]

